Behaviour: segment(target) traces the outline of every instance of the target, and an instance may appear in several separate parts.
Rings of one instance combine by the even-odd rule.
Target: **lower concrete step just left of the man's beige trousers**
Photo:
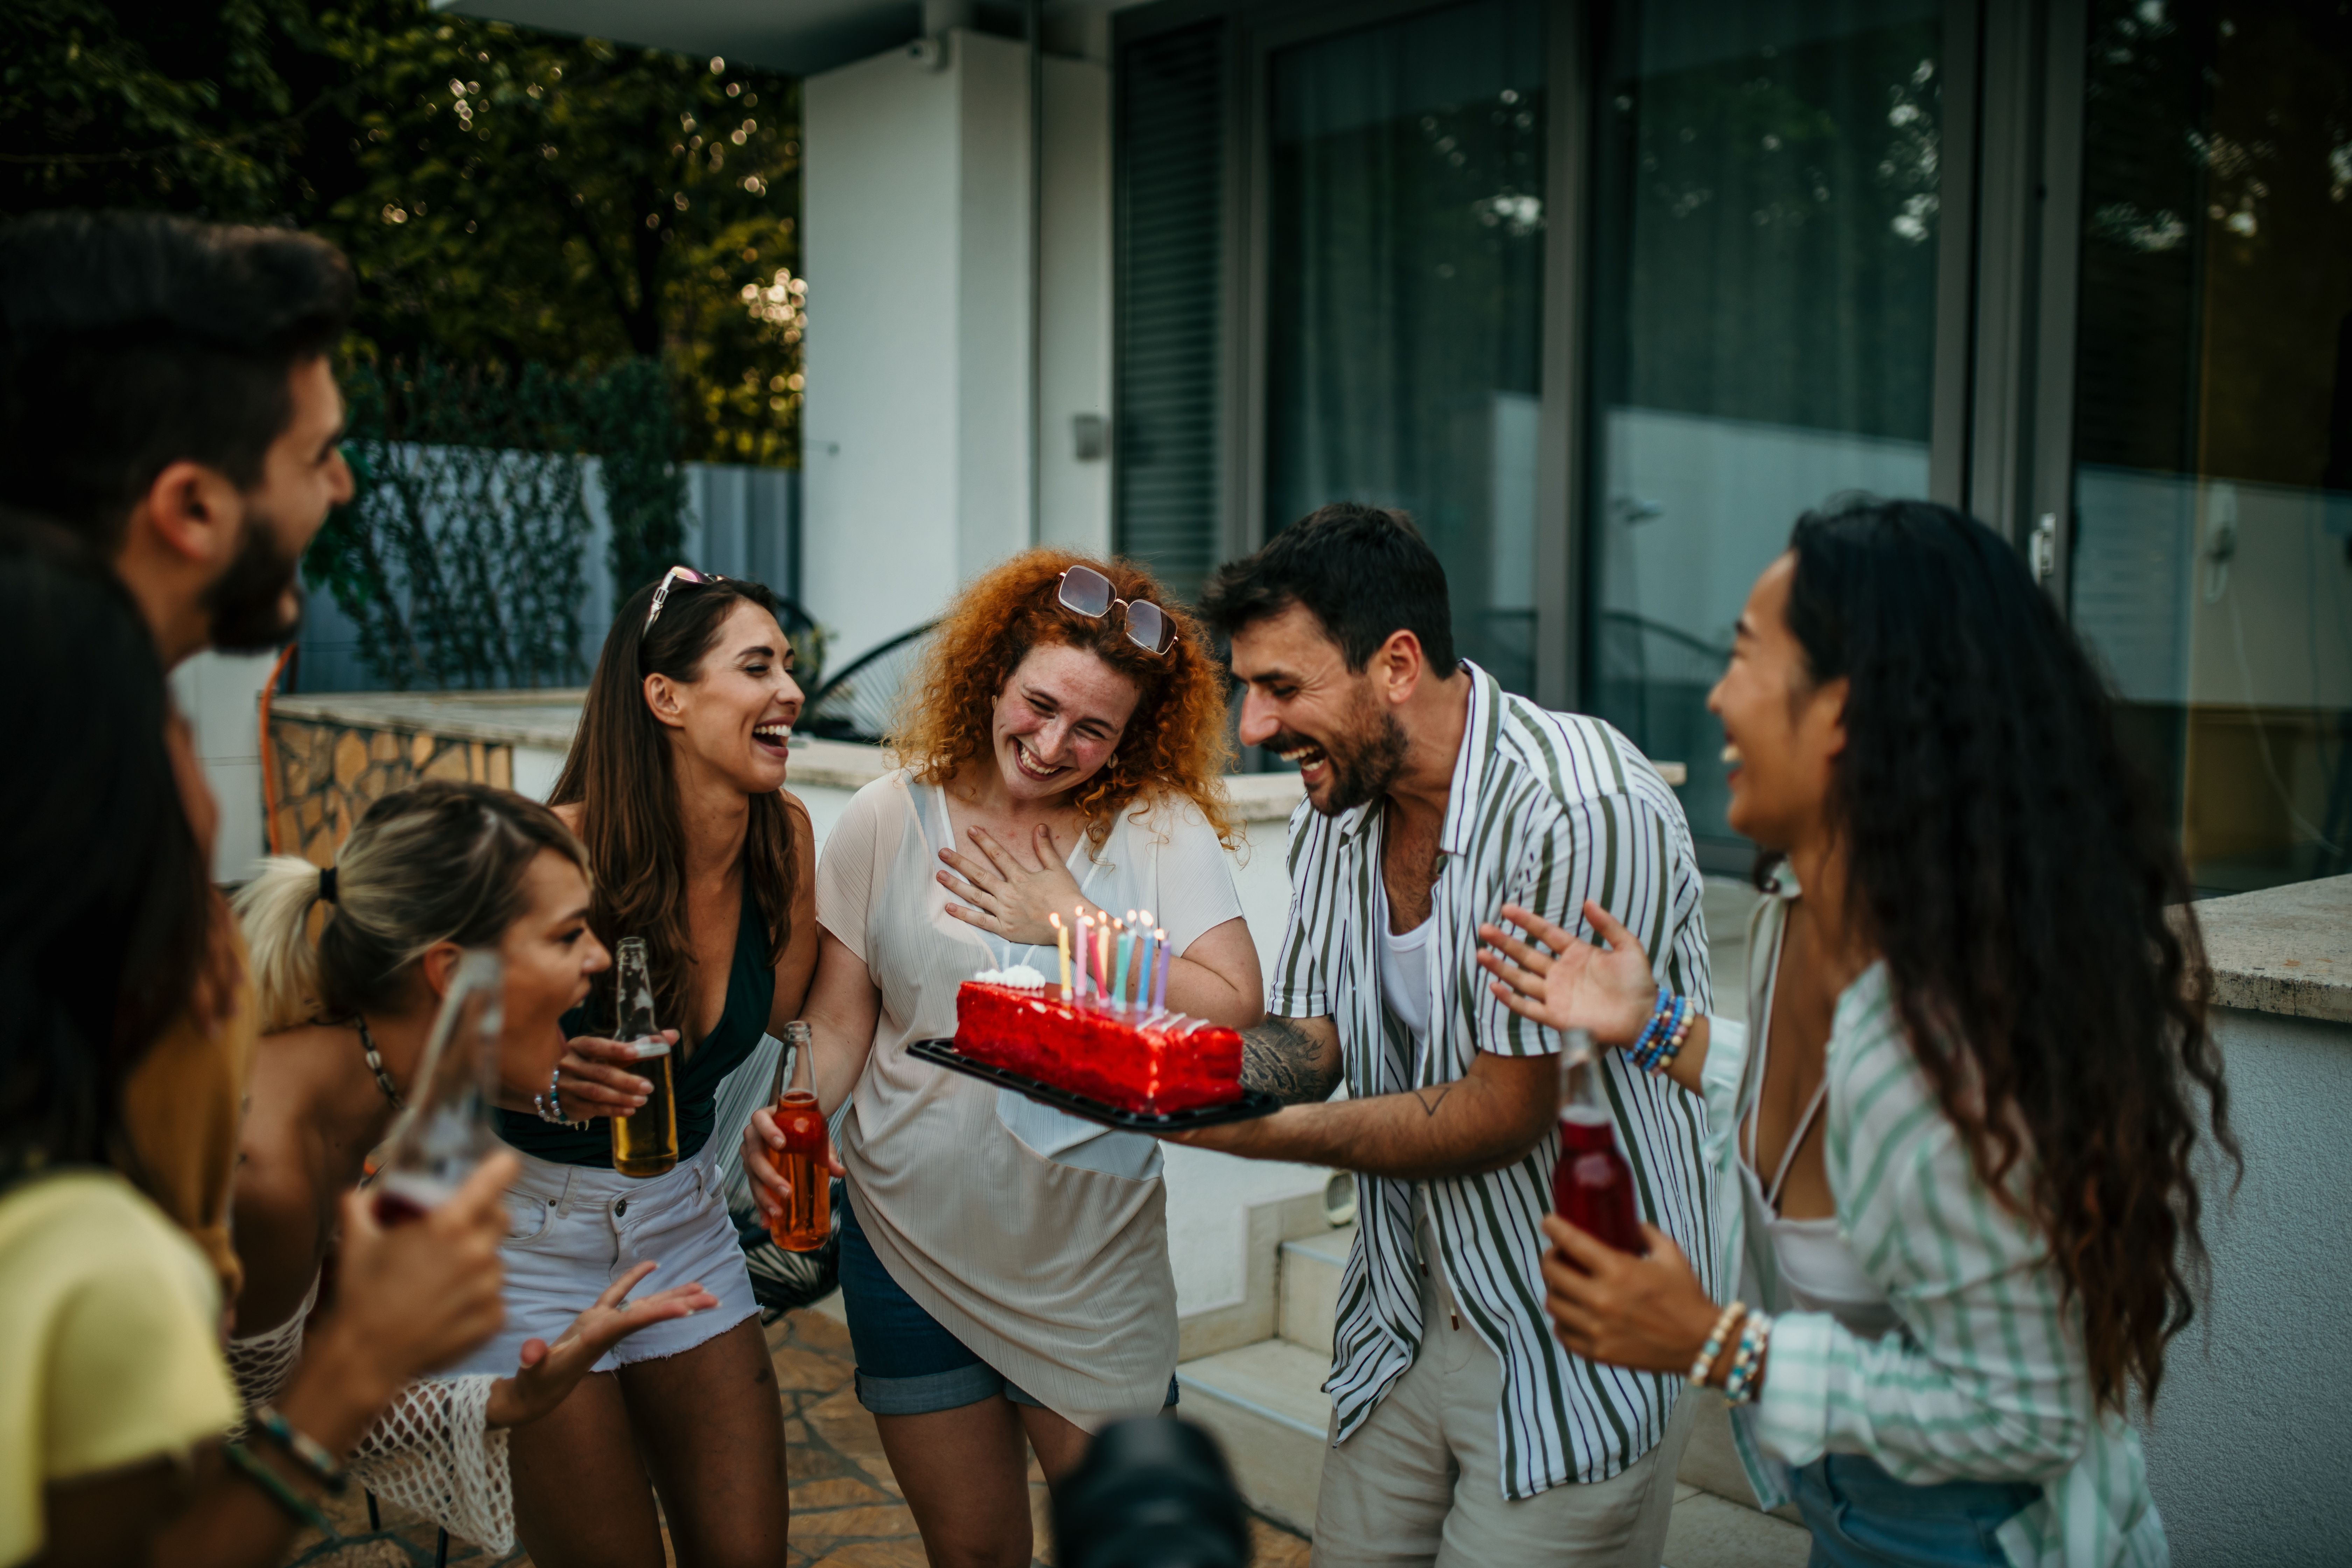
[[[1324,1319],[1329,1324],[1329,1319]],[[1329,1342],[1329,1328],[1324,1328]],[[1258,1340],[1176,1368],[1178,1410],[1216,1434],[1249,1505],[1291,1526],[1315,1528],[1331,1396],[1331,1356],[1289,1340]]]

